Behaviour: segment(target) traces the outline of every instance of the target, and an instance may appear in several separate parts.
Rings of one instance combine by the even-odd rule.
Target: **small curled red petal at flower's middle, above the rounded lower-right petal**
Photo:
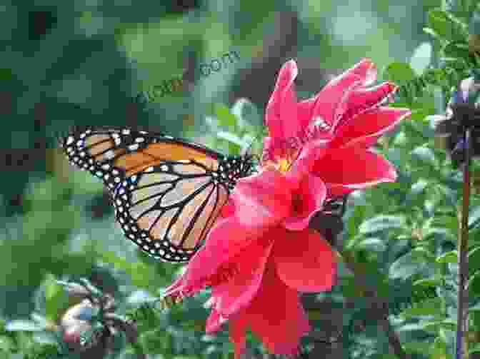
[[[301,178],[299,189],[294,194],[294,207],[291,216],[285,218],[284,226],[291,231],[301,231],[309,226],[311,217],[321,211],[326,197],[326,186],[321,178],[306,173]]]

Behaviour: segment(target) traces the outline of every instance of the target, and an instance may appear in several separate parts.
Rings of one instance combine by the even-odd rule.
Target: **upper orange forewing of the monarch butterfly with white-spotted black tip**
[[[72,165],[101,178],[109,191],[161,161],[195,158],[216,170],[220,156],[196,143],[129,128],[75,128],[61,146]]]

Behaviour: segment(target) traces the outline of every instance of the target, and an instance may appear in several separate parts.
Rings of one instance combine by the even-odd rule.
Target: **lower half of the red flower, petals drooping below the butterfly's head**
[[[299,183],[295,187],[274,168],[239,181],[226,216],[167,289],[169,295],[193,295],[210,285],[206,331],[228,319],[236,355],[244,349],[247,325],[271,352],[295,353],[309,330],[298,291],[329,290],[334,283],[334,253],[304,221],[321,208],[325,188],[319,178]],[[299,231],[287,229],[292,223]]]

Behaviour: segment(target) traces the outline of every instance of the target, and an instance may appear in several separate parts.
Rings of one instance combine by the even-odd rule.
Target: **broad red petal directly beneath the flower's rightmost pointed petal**
[[[314,173],[332,191],[329,196],[337,196],[345,189],[361,189],[396,180],[395,168],[389,161],[361,146],[327,151],[317,159]]]

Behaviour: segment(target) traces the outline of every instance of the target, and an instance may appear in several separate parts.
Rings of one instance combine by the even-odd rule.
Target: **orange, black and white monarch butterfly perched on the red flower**
[[[126,238],[154,258],[189,261],[253,156],[226,157],[179,138],[129,128],[74,128],[59,143],[101,178]]]

